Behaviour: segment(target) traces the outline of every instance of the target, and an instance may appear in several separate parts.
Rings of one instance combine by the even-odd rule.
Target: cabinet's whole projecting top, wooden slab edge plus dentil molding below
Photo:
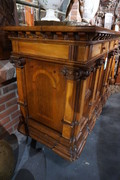
[[[12,38],[42,38],[75,41],[103,41],[119,39],[120,32],[98,26],[6,26],[0,30],[7,31]]]

